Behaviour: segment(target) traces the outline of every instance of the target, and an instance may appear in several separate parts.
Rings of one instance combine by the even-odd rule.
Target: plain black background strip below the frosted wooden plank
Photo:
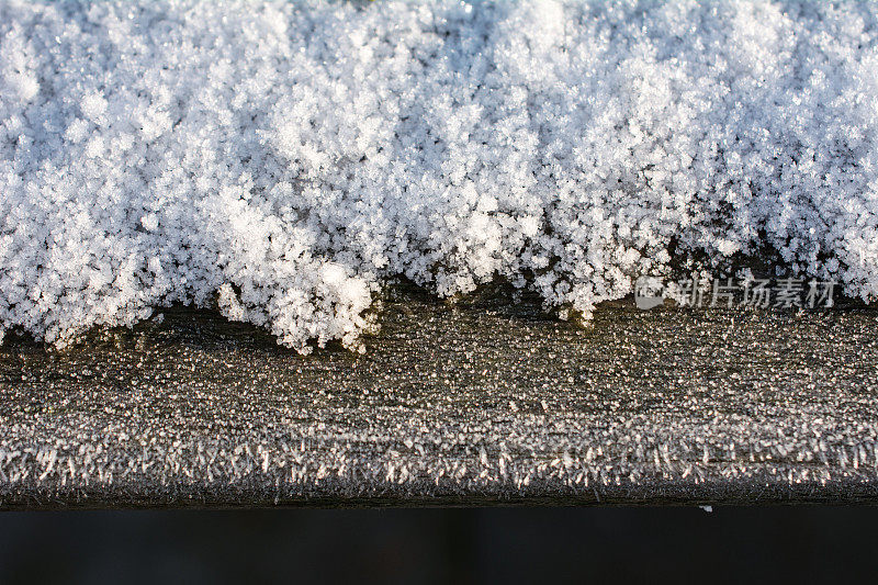
[[[0,513],[0,583],[873,581],[878,508]]]

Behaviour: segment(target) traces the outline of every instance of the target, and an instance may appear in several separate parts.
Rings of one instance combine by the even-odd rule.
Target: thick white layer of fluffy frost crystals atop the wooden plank
[[[878,7],[0,0],[0,331],[299,350],[382,278],[588,314],[672,243],[878,294]]]

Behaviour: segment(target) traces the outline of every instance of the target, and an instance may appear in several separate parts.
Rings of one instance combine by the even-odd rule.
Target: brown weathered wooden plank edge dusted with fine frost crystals
[[[0,506],[875,502],[878,311],[384,302],[302,357],[176,307],[0,349]]]

